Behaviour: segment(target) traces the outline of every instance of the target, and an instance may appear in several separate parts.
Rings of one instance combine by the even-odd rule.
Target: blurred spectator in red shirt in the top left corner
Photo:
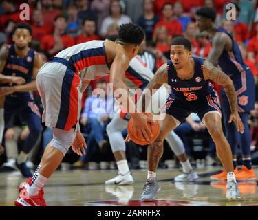
[[[20,22],[19,12],[17,12],[16,1],[3,0],[1,2],[1,8],[3,8],[3,15],[0,16],[0,30],[6,25],[7,21],[14,21],[14,23]]]

